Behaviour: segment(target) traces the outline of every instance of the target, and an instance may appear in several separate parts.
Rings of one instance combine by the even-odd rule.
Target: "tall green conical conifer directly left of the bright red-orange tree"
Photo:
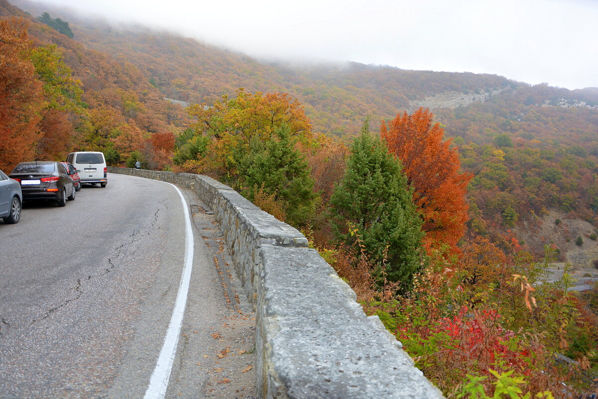
[[[370,135],[366,121],[330,200],[332,227],[340,240],[354,245],[347,223],[355,226],[370,260],[380,266],[386,255],[389,281],[404,288],[422,262],[422,220],[411,196],[401,163]]]

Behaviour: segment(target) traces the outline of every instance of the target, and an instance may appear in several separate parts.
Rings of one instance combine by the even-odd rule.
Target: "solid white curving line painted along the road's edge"
[[[167,183],[170,184],[170,183]],[[179,284],[179,292],[176,296],[175,308],[172,311],[170,324],[166,331],[164,338],[164,345],[160,351],[160,356],[154,368],[154,373],[149,379],[149,386],[145,391],[144,399],[163,399],[168,388],[168,380],[170,379],[170,371],[172,371],[172,363],[175,360],[176,345],[179,341],[179,334],[181,333],[181,325],[183,315],[185,313],[185,305],[187,304],[187,293],[189,291],[189,282],[191,280],[191,269],[193,268],[193,231],[191,230],[191,219],[187,209],[187,202],[185,197],[174,184],[170,184],[175,188],[176,192],[181,197],[183,210],[185,214],[185,263],[183,273],[181,276],[181,284]]]

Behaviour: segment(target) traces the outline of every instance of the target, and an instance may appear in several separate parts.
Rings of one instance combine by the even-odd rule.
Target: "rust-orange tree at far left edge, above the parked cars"
[[[39,139],[42,84],[29,59],[25,20],[0,20],[0,168],[30,159]]]

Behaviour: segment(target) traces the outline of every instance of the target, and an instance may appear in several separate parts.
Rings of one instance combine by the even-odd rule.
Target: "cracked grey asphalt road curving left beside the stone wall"
[[[251,369],[252,313],[228,300],[238,282],[215,267],[228,262],[209,209],[185,197],[196,245],[166,397],[252,397],[254,377],[239,371]],[[18,224],[0,220],[0,398],[143,398],[181,282],[179,194],[110,174],[64,208],[23,208]]]

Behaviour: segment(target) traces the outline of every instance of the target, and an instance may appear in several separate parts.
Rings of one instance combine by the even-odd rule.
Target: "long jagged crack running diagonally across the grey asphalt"
[[[166,200],[162,200],[158,203],[160,203],[160,205],[165,206],[166,208],[168,208],[168,206],[164,203],[164,201]],[[111,256],[108,257],[108,267],[105,267],[103,269],[103,272],[101,273],[97,273],[94,275],[87,275],[87,278],[84,279],[84,281],[90,281],[92,278],[96,278],[96,277],[101,277],[101,276],[105,276],[108,273],[112,272],[112,270],[115,269],[115,267],[118,266],[118,261],[117,259],[119,257],[121,257],[121,255],[129,255],[129,254],[135,254],[136,251],[132,251],[129,252],[129,246],[132,243],[138,242],[139,240],[141,240],[143,237],[145,236],[150,236],[151,235],[151,231],[155,228],[156,224],[158,223],[158,218],[159,218],[159,214],[160,214],[160,209],[158,208],[156,209],[156,211],[154,212],[154,216],[152,218],[151,223],[149,223],[149,227],[148,229],[145,230],[144,233],[141,233],[141,230],[139,229],[134,229],[133,233],[129,234],[129,242],[125,242],[125,243],[121,243],[121,245],[117,246],[116,248],[114,248],[111,252]],[[161,229],[161,226],[158,226],[158,229]],[[114,263],[114,262],[117,263]],[[50,317],[50,315],[52,315],[52,313],[56,312],[57,310],[61,309],[62,307],[65,307],[66,305],[68,305],[69,303],[71,303],[72,301],[78,300],[80,299],[81,296],[83,296],[84,291],[82,290],[82,282],[81,279],[77,279],[77,285],[75,287],[72,288],[72,290],[76,291],[78,294],[75,297],[66,299],[65,301],[63,301],[63,303],[59,304],[58,306],[53,307],[52,309],[49,309],[47,312],[44,313],[44,315],[42,315],[40,318],[38,319],[33,319],[30,323],[29,323],[29,327],[31,327],[33,324],[35,324],[38,321],[42,321],[48,317]],[[4,324],[7,324],[7,322],[4,321],[4,318],[2,318],[2,322]],[[0,334],[2,333],[1,331],[1,325],[0,325]]]

